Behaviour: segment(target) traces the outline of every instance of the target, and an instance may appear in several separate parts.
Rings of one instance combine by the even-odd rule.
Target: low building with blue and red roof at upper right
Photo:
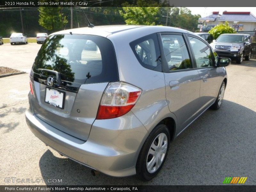
[[[228,21],[230,27],[236,31],[255,31],[256,17],[251,12],[212,12],[211,15],[199,18],[198,21],[202,26],[204,25],[218,25],[225,24]]]

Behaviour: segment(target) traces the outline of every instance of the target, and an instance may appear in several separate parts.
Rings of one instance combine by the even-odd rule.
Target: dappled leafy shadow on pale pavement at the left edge
[[[3,104],[2,105],[2,108],[0,108],[0,109],[2,109],[1,111],[0,111],[0,129],[2,129],[2,128],[6,128],[6,130],[5,130],[5,132],[4,133],[8,133],[8,132],[10,132],[10,131],[12,131],[13,129],[15,129],[20,123],[19,122],[3,122],[2,120],[1,120],[1,118],[2,117],[4,117],[4,116],[8,116],[8,115],[10,115],[10,116],[15,116],[15,115],[17,115],[17,114],[22,114],[22,113],[24,113],[25,111],[26,111],[26,108],[24,108],[24,107],[20,107],[20,108],[15,108],[15,107],[13,107],[13,108],[8,108],[8,109],[3,109],[4,107],[6,107],[7,105],[6,104]]]

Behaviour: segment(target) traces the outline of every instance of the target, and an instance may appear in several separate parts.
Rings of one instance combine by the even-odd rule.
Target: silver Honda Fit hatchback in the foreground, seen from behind
[[[229,63],[179,28],[53,33],[30,73],[27,124],[46,145],[92,170],[151,180],[170,142],[205,110],[220,108]]]

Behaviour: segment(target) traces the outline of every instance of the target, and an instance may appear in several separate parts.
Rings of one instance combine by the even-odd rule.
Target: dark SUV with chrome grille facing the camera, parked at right
[[[220,57],[228,57],[240,64],[250,60],[252,54],[252,39],[249,34],[222,34],[211,44]]]

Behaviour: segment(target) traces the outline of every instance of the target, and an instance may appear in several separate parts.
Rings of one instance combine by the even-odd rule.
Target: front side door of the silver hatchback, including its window
[[[200,111],[208,108],[216,99],[219,86],[220,74],[215,67],[211,47],[196,36],[188,35],[193,52],[193,60],[200,76]]]

